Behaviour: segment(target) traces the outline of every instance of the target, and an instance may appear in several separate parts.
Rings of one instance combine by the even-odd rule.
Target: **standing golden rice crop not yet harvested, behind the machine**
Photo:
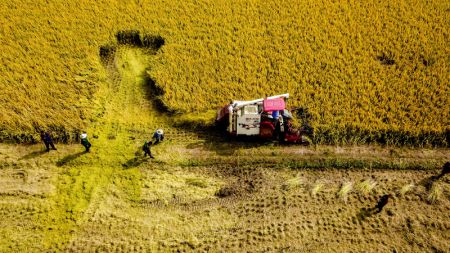
[[[289,105],[312,113],[318,143],[448,145],[448,9],[438,0],[2,1],[0,136],[67,135],[95,120],[107,83],[99,48],[133,29],[165,40],[148,75],[171,111],[289,92]]]

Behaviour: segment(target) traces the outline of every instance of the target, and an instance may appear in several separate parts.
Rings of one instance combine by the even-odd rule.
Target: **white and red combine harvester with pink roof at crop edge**
[[[286,109],[289,94],[251,101],[233,100],[217,112],[216,124],[230,136],[259,136],[280,142],[308,144],[292,127],[292,114]]]

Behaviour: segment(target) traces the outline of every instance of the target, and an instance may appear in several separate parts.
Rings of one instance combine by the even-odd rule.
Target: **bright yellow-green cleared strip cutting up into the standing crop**
[[[103,91],[104,114],[88,129],[95,136],[91,138],[94,146],[86,154],[88,162],[80,168],[89,170],[94,184],[87,198],[89,204],[76,220],[77,231],[83,231],[86,224],[108,209],[105,202],[113,191],[120,192],[127,201],[140,199],[142,178],[135,167],[152,161],[135,153],[140,153],[144,140],[150,140],[157,127],[167,125],[167,117],[158,113],[148,99],[150,91],[144,72],[150,53],[121,47],[106,66],[111,80]],[[78,233],[71,235],[70,244],[81,238]]]

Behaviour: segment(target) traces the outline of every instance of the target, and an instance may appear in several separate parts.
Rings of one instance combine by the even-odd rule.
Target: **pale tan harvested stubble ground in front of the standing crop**
[[[183,150],[183,145],[164,145],[159,150],[155,147],[155,153],[171,149],[170,146]],[[2,247],[2,251],[15,251],[15,246],[20,249],[24,242],[30,245],[34,242],[37,251],[45,248],[39,242],[44,228],[33,220],[33,215],[55,194],[54,181],[62,168],[52,163],[80,147],[59,148],[55,153],[27,158],[27,154],[39,151],[41,146],[1,146],[0,238],[2,243],[10,240],[3,246],[11,246]],[[299,147],[271,150],[291,156],[298,150],[317,152]],[[217,156],[201,149],[195,152],[196,158],[204,155]],[[434,204],[427,200],[430,191],[423,185],[437,174],[438,168],[290,170],[267,168],[264,164],[237,167],[226,163],[180,167],[169,155],[159,156],[157,163],[145,161],[138,166],[142,175],[139,200],[130,200],[126,190],[114,181],[96,189],[64,249],[73,252],[448,252],[449,249],[450,178],[435,183],[442,192]],[[187,178],[199,179],[206,186],[190,184]],[[373,192],[364,195],[357,186],[366,179],[372,179],[376,186]],[[318,182],[324,185],[313,196],[312,189]],[[346,203],[337,195],[345,182],[354,185]],[[400,189],[411,183],[415,187],[401,196]],[[217,189],[226,185],[235,187],[236,195],[215,197]],[[396,194],[395,200],[380,214],[367,213],[365,210],[374,207],[385,193]]]

